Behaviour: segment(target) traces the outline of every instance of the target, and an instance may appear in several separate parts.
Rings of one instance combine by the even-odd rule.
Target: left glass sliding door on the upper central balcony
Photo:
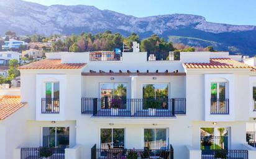
[[[110,109],[118,104],[119,109],[126,109],[127,84],[107,83],[101,84],[101,109]]]

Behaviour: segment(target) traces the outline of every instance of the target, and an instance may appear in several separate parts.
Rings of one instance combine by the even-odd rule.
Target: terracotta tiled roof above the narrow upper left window
[[[86,66],[85,63],[63,64],[61,59],[42,59],[20,66],[19,69],[81,69],[84,66]]]

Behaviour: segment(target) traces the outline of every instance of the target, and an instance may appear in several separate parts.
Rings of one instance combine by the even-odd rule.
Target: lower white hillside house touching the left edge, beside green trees
[[[15,51],[0,51],[0,65],[9,64],[10,59],[20,61],[21,55],[21,53]]]

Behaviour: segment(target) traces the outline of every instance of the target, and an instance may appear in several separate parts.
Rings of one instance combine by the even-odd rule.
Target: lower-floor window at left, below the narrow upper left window
[[[43,127],[43,147],[66,148],[70,145],[70,127]]]

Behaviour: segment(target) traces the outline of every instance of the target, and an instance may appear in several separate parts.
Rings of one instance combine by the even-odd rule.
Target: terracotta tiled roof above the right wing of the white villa
[[[213,58],[209,63],[184,63],[187,69],[245,69],[252,68],[243,62],[235,61],[230,58]]]

